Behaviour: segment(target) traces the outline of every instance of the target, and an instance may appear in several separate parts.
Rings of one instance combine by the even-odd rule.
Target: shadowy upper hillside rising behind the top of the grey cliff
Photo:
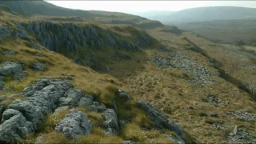
[[[9,10],[23,17],[36,21],[95,22],[105,24],[128,24],[142,29],[163,26],[161,22],[150,21],[139,16],[97,10],[70,10],[54,6],[43,0],[39,1],[0,1]],[[40,15],[40,16],[39,16]],[[31,18],[32,17],[32,18]]]

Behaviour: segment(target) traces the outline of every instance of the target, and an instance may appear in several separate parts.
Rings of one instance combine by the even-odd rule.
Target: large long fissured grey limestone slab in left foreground
[[[40,85],[41,90],[34,89]],[[28,94],[30,97],[14,100],[8,109],[22,112],[26,120],[32,122],[34,129],[36,129],[44,120],[45,115],[57,107],[59,98],[63,97],[66,90],[71,87],[70,82],[62,79],[38,80],[24,90],[24,94]]]

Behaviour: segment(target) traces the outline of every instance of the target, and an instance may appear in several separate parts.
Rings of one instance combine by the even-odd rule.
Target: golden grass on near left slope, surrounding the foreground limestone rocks
[[[6,17],[7,15],[5,14],[10,17]],[[27,21],[25,18],[19,18],[18,16],[6,11],[4,11],[2,18],[5,19],[2,19],[0,24],[7,23],[9,26],[14,26],[14,24],[10,22],[10,19],[15,19],[16,21],[20,20],[20,22]],[[108,27],[108,25],[106,25],[106,27]],[[117,26],[115,26],[115,28],[117,28]],[[122,30],[122,27],[118,30]],[[133,32],[130,32],[130,29],[119,31],[119,33],[124,35],[133,34]],[[16,55],[3,55],[2,52],[5,50],[12,50],[16,52]],[[120,52],[127,53],[126,51]],[[38,57],[36,55],[37,53],[42,54],[44,57]],[[102,55],[103,58],[103,56],[114,53],[114,50],[112,48],[107,48],[106,50],[94,50],[94,53],[98,54],[98,56]],[[70,81],[73,83],[75,88],[83,90],[86,94],[94,94],[98,98],[98,101],[106,104],[106,106],[111,106],[113,104],[113,100],[115,100],[118,106],[118,110],[116,111],[118,118],[130,119],[131,121],[124,130],[119,131],[118,136],[106,136],[103,124],[104,120],[101,114],[88,112],[86,107],[76,107],[76,109],[85,112],[94,124],[94,129],[91,134],[79,137],[76,142],[121,143],[123,139],[130,139],[134,142],[172,143],[172,141],[162,136],[162,134],[175,135],[172,131],[166,130],[160,134],[157,130],[141,130],[142,127],[154,128],[154,125],[150,121],[150,118],[146,116],[144,111],[138,108],[134,99],[125,103],[118,100],[115,95],[117,88],[122,87],[125,90],[129,90],[123,82],[118,80],[118,78],[114,78],[109,74],[98,74],[98,72],[95,72],[85,66],[78,66],[69,58],[53,51],[46,50],[43,47],[42,50],[34,50],[30,47],[29,42],[26,42],[25,40],[2,39],[0,41],[0,63],[17,61],[24,62],[26,64],[25,70],[28,72],[28,76],[19,81],[11,81],[7,78],[6,86],[13,86],[14,89],[1,92],[0,95],[21,93],[26,86],[29,86],[30,83],[34,82],[38,78],[70,78],[69,74],[74,74],[75,76],[71,77]],[[30,66],[33,62],[47,63],[47,70],[43,72],[32,70]],[[4,102],[4,106],[7,107],[12,101],[14,101],[14,99],[22,98],[24,97],[0,99],[0,101]],[[126,111],[126,113],[124,113],[124,111]],[[64,118],[64,115],[67,113],[68,110],[63,110],[58,115],[49,114],[46,117],[45,122],[42,123],[42,126],[40,126],[36,131],[36,134],[32,137],[27,137],[25,143],[34,142],[35,138],[41,135],[43,135],[42,142],[46,143],[75,143],[73,140],[67,139],[62,134],[54,131],[54,127],[57,126],[58,122]]]

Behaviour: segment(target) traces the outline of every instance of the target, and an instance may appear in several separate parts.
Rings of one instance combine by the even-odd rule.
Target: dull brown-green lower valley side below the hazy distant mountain
[[[184,22],[176,26],[182,30],[194,31],[211,41],[247,46],[256,46],[256,19],[216,20],[207,22]]]

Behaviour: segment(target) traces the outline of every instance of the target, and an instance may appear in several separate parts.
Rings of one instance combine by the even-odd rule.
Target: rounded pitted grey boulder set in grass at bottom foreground
[[[92,124],[86,114],[78,110],[70,110],[69,114],[65,115],[55,127],[55,130],[60,131],[67,138],[76,138],[78,135],[90,134]]]

